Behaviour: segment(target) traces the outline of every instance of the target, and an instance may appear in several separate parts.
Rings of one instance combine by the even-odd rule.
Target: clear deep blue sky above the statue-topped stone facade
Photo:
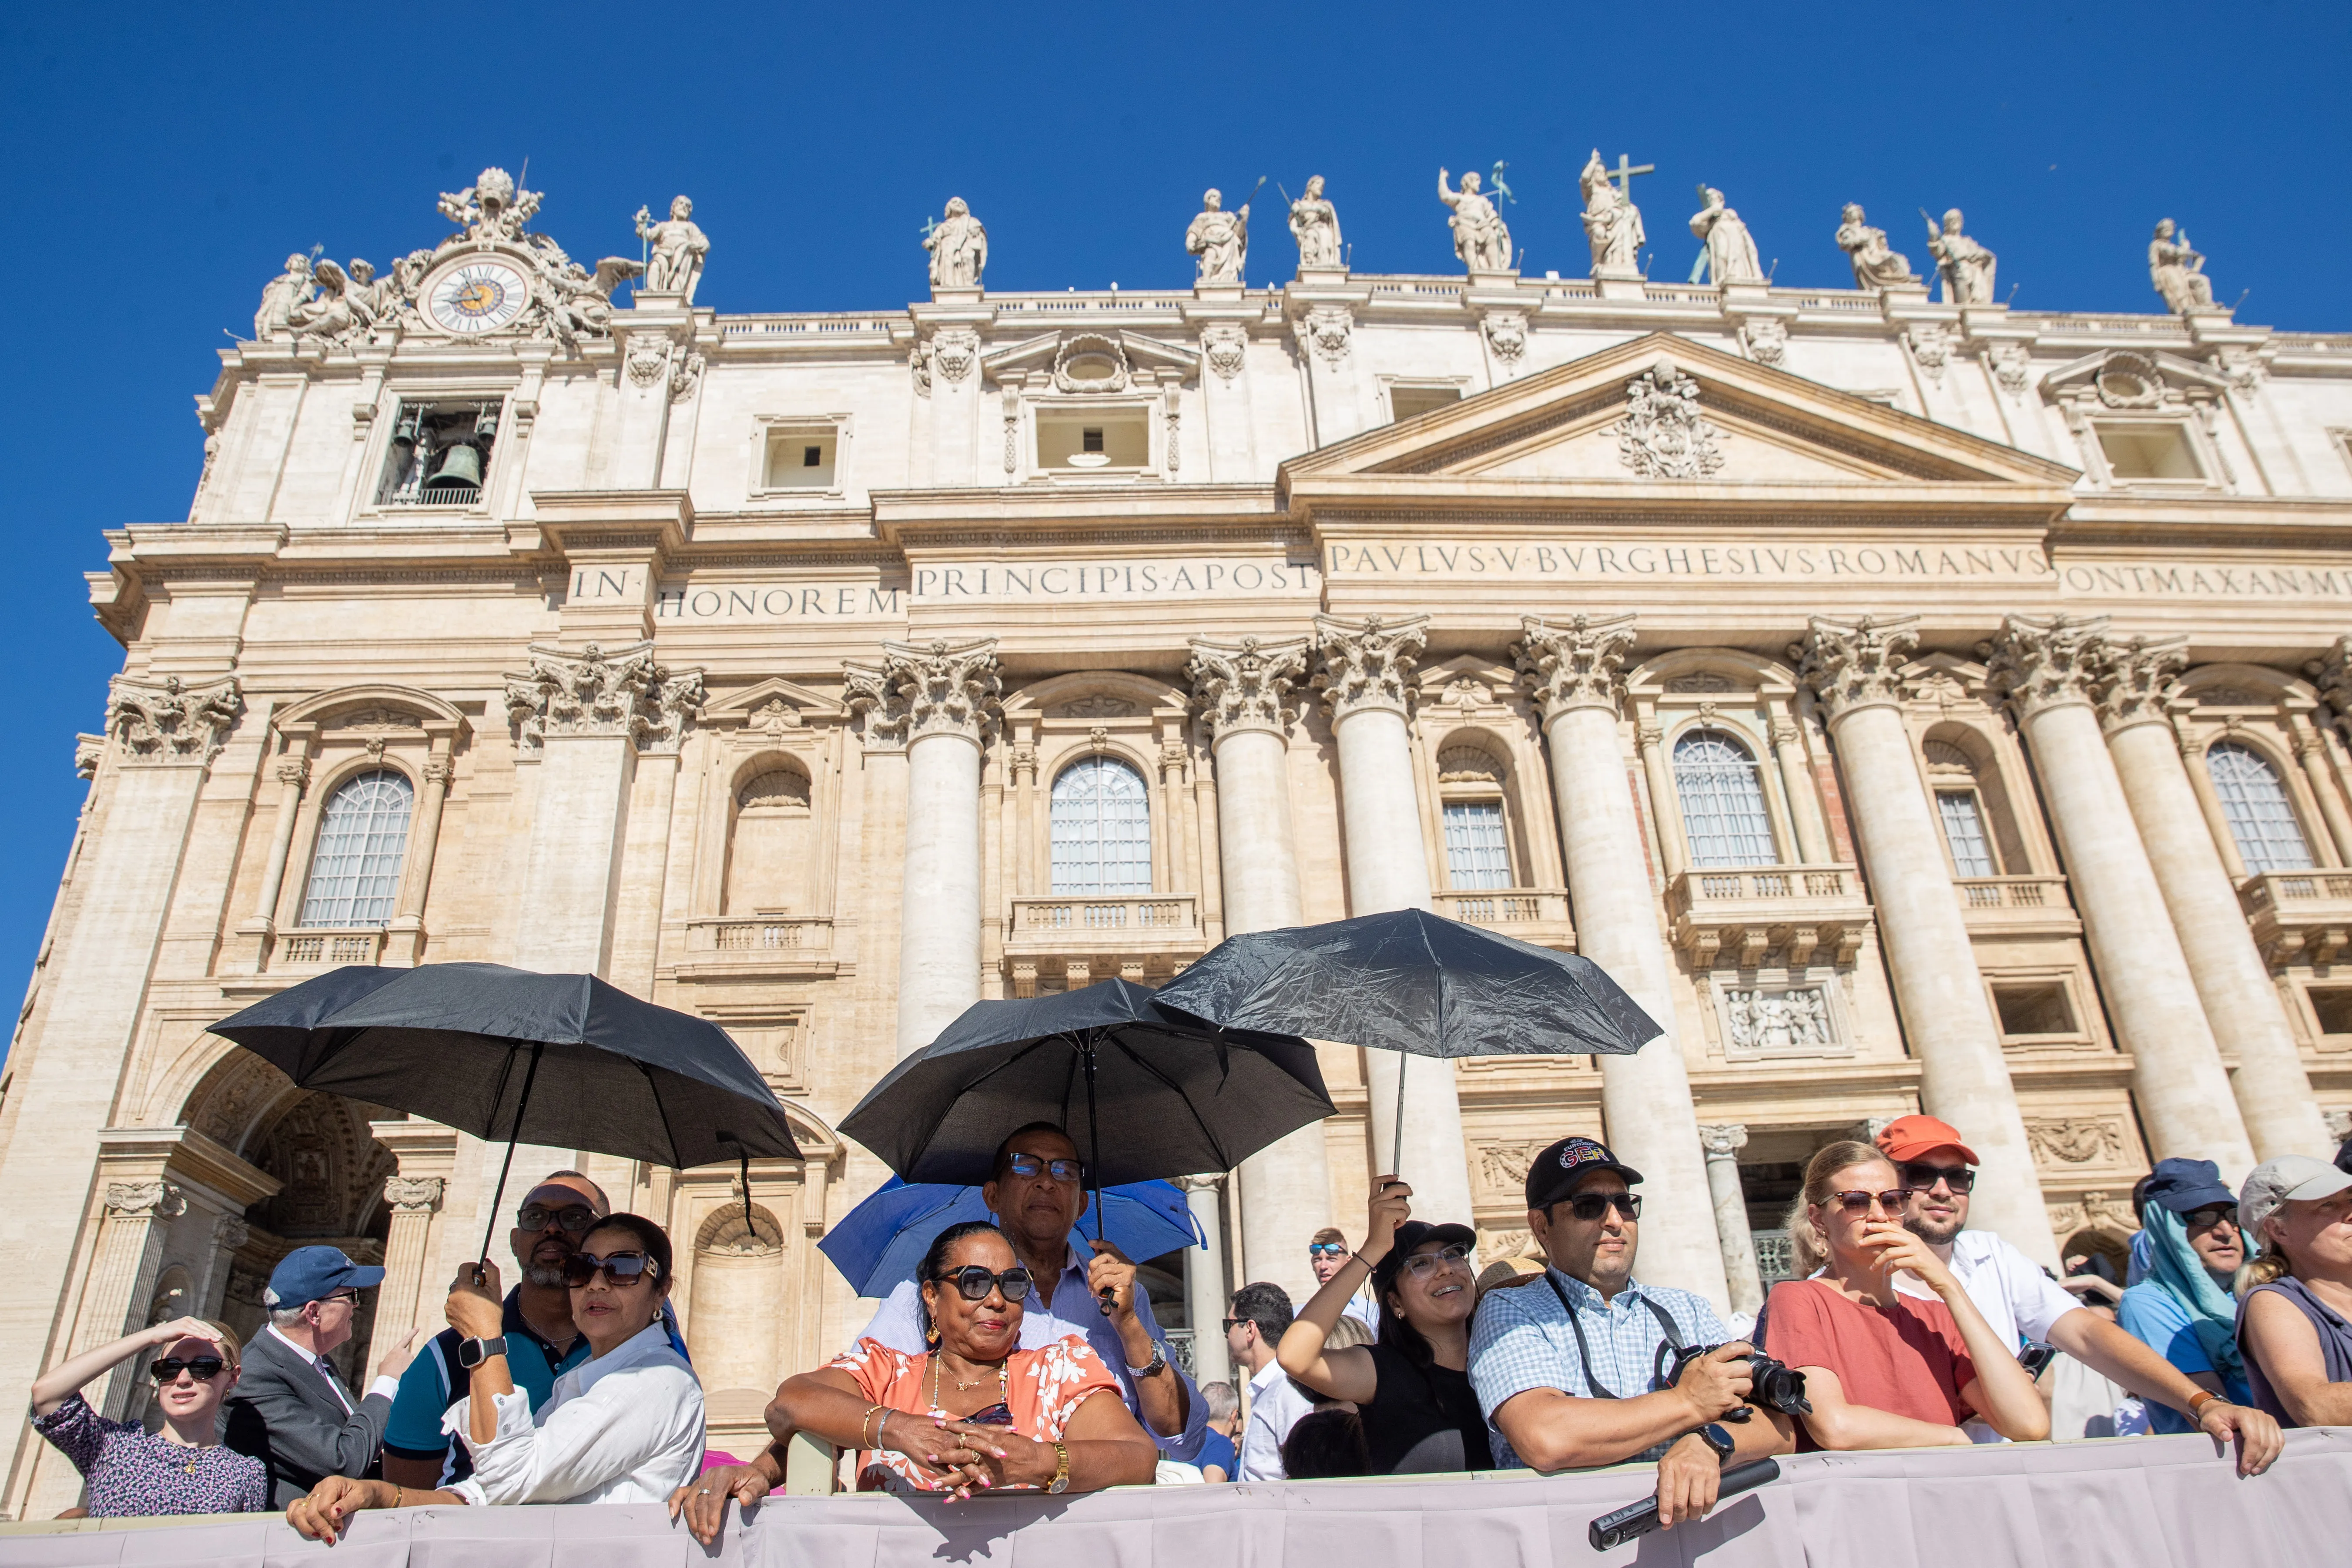
[[[26,663],[0,764],[0,987],[73,832],[73,733],[120,649],[89,618],[101,529],[183,517],[191,397],[289,249],[433,244],[482,165],[546,193],[574,256],[635,254],[684,190],[701,303],[887,308],[922,292],[948,195],[1000,289],[1183,287],[1204,186],[1270,176],[1249,282],[1291,263],[1272,181],[1329,179],[1359,270],[1454,270],[1437,167],[1510,165],[1526,268],[1581,275],[1576,172],[1635,183],[1679,280],[1698,181],[1783,284],[1844,284],[1842,202],[1924,261],[1959,205],[2018,308],[2152,310],[2176,216],[2241,320],[2352,329],[2352,7],[165,7],[0,14],[19,327],[0,397]]]

